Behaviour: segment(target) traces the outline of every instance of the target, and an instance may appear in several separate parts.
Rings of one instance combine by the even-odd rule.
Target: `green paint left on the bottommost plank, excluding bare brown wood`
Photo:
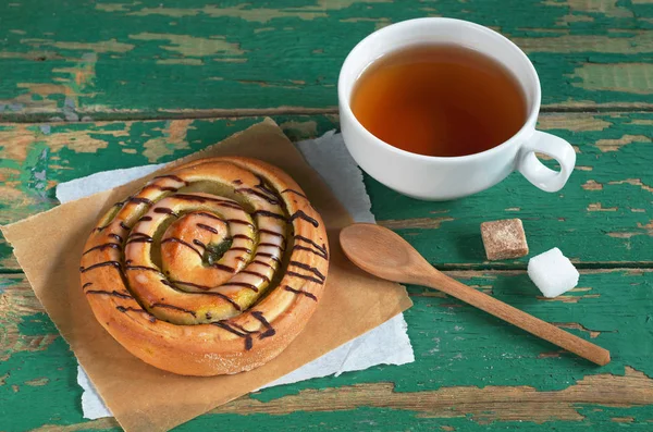
[[[395,393],[410,393],[416,397],[419,397],[419,392],[461,386],[480,390],[488,386],[498,386],[495,387],[497,390],[505,386],[529,386],[538,392],[562,392],[577,385],[579,381],[587,382],[588,378],[593,375],[624,375],[626,367],[649,377],[653,374],[649,361],[649,350],[653,346],[653,320],[651,317],[646,318],[649,305],[653,301],[652,271],[583,272],[579,288],[567,294],[577,298],[577,303],[537,300],[537,288],[521,271],[451,274],[471,286],[491,289],[496,298],[546,321],[560,323],[562,326],[564,323],[578,323],[597,332],[591,341],[611,349],[613,362],[607,367],[596,368],[575,356],[552,356],[551,353],[557,349],[534,336],[455,299],[433,296],[431,291],[410,286],[409,293],[415,307],[406,312],[406,320],[415,348],[415,363],[402,367],[379,366],[340,377],[315,379],[264,390],[249,397],[266,404],[311,390],[373,383],[393,383]],[[32,336],[57,334],[57,330],[44,313],[23,317],[20,331],[21,334]],[[590,338],[588,332],[570,332]],[[5,412],[12,412],[14,416],[5,417],[7,420],[0,422],[3,428],[26,430],[42,424],[65,425],[84,421],[78,406],[79,390],[74,384],[75,360],[62,338],[54,340],[41,351],[14,354],[8,361],[0,363],[0,377],[8,373],[9,377],[3,379],[5,384],[0,385],[0,399],[5,402],[0,405],[0,414],[7,410]],[[44,387],[30,387],[25,384],[42,378],[49,380]],[[14,393],[12,385],[17,385],[20,392]],[[639,385],[637,392],[649,392],[651,386],[643,381]],[[346,397],[346,393],[342,397]],[[646,396],[640,396],[638,400],[642,400],[642,397],[645,400]],[[649,394],[648,397],[653,398],[653,394]],[[25,400],[39,404],[25,404]],[[356,409],[341,408],[342,410],[333,412],[305,406],[303,410],[281,416],[247,412],[209,414],[182,425],[178,430],[210,429],[211,424],[221,424],[221,429],[225,431],[251,430],[263,421],[269,430],[303,430],[308,427],[352,430],[352,424],[356,423],[360,430],[383,431],[394,431],[395,425],[401,425],[402,430],[455,425],[464,431],[505,431],[516,428],[517,424],[521,425],[519,430],[527,431],[612,431],[608,425],[614,427],[613,418],[632,418],[633,420],[629,421],[629,425],[636,428],[632,430],[644,431],[646,429],[643,425],[653,416],[653,405],[629,406],[625,403],[626,406],[608,407],[574,400],[571,396],[563,399],[563,403],[568,404],[566,411],[576,412],[574,420],[562,421],[556,419],[554,414],[551,419],[540,424],[528,420],[514,424],[509,419],[488,420],[494,416],[501,418],[501,414],[494,414],[494,410],[509,411],[502,405],[489,406],[488,416],[479,414],[466,417],[464,412],[454,410],[448,411],[446,418],[429,418],[432,416],[412,411],[408,406],[394,409],[361,406]],[[370,400],[370,404],[372,403],[380,402]],[[513,404],[519,405],[520,402]],[[527,418],[528,412],[517,410],[513,416]]]

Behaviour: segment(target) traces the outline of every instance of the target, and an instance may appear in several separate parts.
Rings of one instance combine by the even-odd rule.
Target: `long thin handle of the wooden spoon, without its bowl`
[[[461,301],[484,310],[513,325],[517,325],[519,329],[526,330],[538,337],[586,358],[593,363],[604,366],[609,362],[609,351],[607,349],[575,336],[571,333],[565,332],[539,318],[506,305],[494,297],[470,288],[446,274],[441,272],[434,273],[424,282],[429,282],[427,285],[431,288],[439,289],[452,297],[456,297]]]

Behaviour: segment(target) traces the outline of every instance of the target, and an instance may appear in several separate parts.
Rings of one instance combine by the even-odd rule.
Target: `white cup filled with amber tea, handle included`
[[[535,129],[540,81],[528,57],[466,21],[418,18],[371,34],[346,58],[338,99],[356,162],[415,198],[468,196],[515,170],[556,192],[576,163],[569,143]],[[535,152],[556,159],[560,171]]]

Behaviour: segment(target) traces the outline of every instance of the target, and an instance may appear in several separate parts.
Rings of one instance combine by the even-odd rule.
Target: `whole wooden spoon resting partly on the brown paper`
[[[609,362],[608,350],[438,271],[405,239],[385,227],[356,223],[341,232],[340,240],[347,258],[368,273],[389,281],[440,289],[596,365]]]

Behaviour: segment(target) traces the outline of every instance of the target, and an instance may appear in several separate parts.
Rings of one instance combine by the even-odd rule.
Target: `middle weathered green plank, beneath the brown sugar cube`
[[[336,127],[334,116],[275,118],[293,138]],[[0,223],[56,205],[59,182],[97,171],[170,161],[261,118],[0,126]],[[653,263],[652,113],[544,114],[540,127],[577,146],[577,169],[556,194],[515,173],[476,196],[449,202],[406,198],[366,176],[379,222],[444,268],[523,268],[527,258],[485,261],[479,225],[521,218],[532,254],[552,247],[583,267]],[[551,163],[549,161],[547,163]],[[0,243],[0,267],[19,270]]]

